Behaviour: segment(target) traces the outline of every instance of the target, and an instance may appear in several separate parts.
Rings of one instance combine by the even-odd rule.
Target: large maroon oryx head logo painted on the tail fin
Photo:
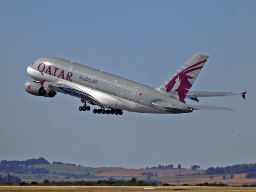
[[[187,74],[202,69],[203,66],[196,67],[202,63],[205,63],[206,60],[200,61],[192,66],[189,66],[188,68],[181,71],[179,74],[177,74],[172,80],[166,85],[166,92],[170,91],[177,91],[180,101],[183,101],[186,97],[186,94],[188,93],[188,90],[191,88],[192,84],[188,81],[188,79],[192,79],[194,77],[188,76]]]

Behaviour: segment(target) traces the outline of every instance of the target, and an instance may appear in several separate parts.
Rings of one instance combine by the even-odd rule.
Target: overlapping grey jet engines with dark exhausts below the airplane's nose
[[[57,94],[56,91],[46,91],[39,83],[33,81],[26,82],[25,90],[35,96],[54,97]]]

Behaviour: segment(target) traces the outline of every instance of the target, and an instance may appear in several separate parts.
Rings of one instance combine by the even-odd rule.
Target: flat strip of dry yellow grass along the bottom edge
[[[177,186],[177,187],[110,187],[110,186],[0,186],[4,192],[256,192],[252,187],[198,187],[198,186]]]

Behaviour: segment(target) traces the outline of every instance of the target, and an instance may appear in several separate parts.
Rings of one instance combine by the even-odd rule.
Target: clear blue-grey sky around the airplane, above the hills
[[[244,0],[0,0],[0,159],[126,168],[256,163],[255,10],[256,1]],[[237,111],[102,115],[79,112],[72,96],[24,90],[27,66],[45,56],[157,88],[196,53],[210,57],[191,90],[248,91],[245,100],[199,104]]]

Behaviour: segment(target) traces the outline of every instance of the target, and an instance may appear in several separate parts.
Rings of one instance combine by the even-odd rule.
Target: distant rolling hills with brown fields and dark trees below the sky
[[[125,180],[137,178],[137,181],[157,183],[168,183],[173,185],[198,184],[223,182],[228,185],[241,185],[256,183],[256,164],[242,164],[227,167],[216,167],[203,169],[174,168],[170,166],[157,166],[141,169],[126,168],[92,168],[76,164],[53,162],[52,164],[44,158],[30,159],[24,161],[0,162],[0,176],[6,180],[7,173],[30,183],[32,181],[42,183],[44,179],[50,182],[75,182],[79,180]],[[199,167],[199,166],[197,166]],[[250,172],[250,174],[246,174]],[[232,176],[231,176],[232,174]],[[225,178],[225,179],[224,179]]]

